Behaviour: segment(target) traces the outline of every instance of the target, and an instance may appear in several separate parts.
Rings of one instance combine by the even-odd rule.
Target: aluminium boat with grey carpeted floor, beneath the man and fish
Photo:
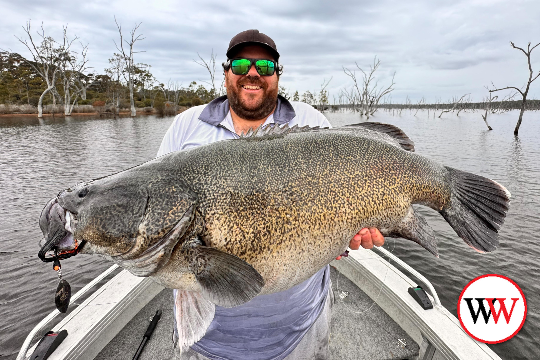
[[[333,359],[500,359],[465,333],[424,276],[388,250],[360,248],[330,266]],[[417,290],[429,301],[417,300]],[[65,315],[54,310],[37,324],[17,360],[30,360],[50,330],[68,332],[50,360],[131,359],[157,310],[163,315],[140,359],[173,359],[172,306],[171,289],[115,264],[72,296]]]

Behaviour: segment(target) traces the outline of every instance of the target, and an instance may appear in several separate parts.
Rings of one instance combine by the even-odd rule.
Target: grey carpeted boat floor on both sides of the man
[[[339,276],[339,292],[347,291],[348,296],[343,301],[340,299],[338,274],[338,270],[330,267],[330,279],[332,279],[332,288],[336,298],[332,308],[330,332],[332,358],[401,360],[417,356],[419,345],[379,305],[374,304],[369,296],[343,275]],[[148,327],[149,317],[153,316],[158,309],[163,311],[163,315],[140,359],[174,359],[172,305],[172,290],[164,289],[120,330],[95,359],[131,359]],[[369,310],[365,311],[368,308]],[[404,348],[398,339],[406,343]]]

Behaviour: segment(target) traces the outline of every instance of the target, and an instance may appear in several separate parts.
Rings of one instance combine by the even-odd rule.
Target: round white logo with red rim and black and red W
[[[488,344],[507,341],[527,317],[527,301],[519,286],[506,276],[478,276],[461,291],[457,317],[463,330]]]

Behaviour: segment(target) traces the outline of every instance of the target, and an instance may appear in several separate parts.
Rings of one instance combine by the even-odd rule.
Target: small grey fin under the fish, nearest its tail
[[[403,237],[404,239],[413,240],[427,249],[431,254],[438,257],[437,239],[435,239],[433,229],[429,226],[426,219],[412,206],[409,207],[409,211],[401,222],[392,229],[390,234],[385,236]]]

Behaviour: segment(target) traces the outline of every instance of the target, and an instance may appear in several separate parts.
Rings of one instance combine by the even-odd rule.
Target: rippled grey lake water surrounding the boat
[[[496,273],[521,286],[528,301],[521,331],[502,344],[490,345],[505,359],[536,358],[540,353],[540,113],[527,112],[519,138],[513,129],[517,112],[494,114],[488,131],[479,113],[443,114],[378,112],[371,121],[402,128],[416,152],[444,165],[494,179],[512,193],[501,246],[478,254],[457,237],[442,216],[421,209],[435,230],[440,259],[417,244],[397,240],[394,254],[424,274],[441,301],[457,316],[457,298],[476,276]],[[360,122],[357,114],[326,113],[334,126]],[[150,160],[172,118],[144,116],[0,117],[0,359],[14,359],[28,332],[55,308],[58,283],[51,263],[37,257],[39,214],[60,190]],[[393,241],[389,240],[391,246]],[[110,266],[95,256],[62,262],[64,278],[75,293]],[[536,336],[535,336],[536,334]]]

